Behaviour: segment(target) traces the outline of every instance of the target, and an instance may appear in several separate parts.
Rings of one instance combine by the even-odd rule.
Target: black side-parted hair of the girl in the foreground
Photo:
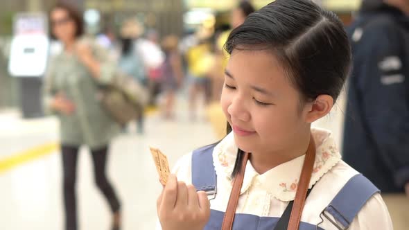
[[[342,22],[310,0],[276,0],[253,12],[230,33],[225,49],[230,54],[234,50],[271,52],[300,92],[302,104],[322,94],[335,102],[351,64]],[[242,153],[238,150],[233,177],[240,170]]]

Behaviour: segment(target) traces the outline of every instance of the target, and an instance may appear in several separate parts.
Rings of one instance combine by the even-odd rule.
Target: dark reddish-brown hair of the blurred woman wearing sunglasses
[[[82,11],[76,6],[74,6],[72,3],[69,3],[68,1],[59,1],[49,11],[49,18],[51,18],[51,12],[57,9],[62,9],[62,10],[67,11],[68,17],[71,20],[73,20],[74,24],[76,24],[76,35],[75,35],[76,38],[81,37],[84,34],[84,20],[82,19]],[[51,26],[53,25],[51,24],[52,23],[51,19],[49,21],[50,21],[49,28],[52,28]],[[52,29],[50,31],[51,31],[51,38],[55,39],[55,36],[52,33]]]

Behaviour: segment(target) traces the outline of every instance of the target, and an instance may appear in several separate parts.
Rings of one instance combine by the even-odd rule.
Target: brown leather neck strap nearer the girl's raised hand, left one
[[[241,170],[238,172],[233,180],[232,193],[230,193],[229,203],[223,218],[222,230],[231,230],[234,222],[234,215],[236,214],[236,207],[238,202],[238,196],[240,195],[241,186],[243,185],[245,166],[247,164],[248,152],[244,153],[243,161],[241,161]]]

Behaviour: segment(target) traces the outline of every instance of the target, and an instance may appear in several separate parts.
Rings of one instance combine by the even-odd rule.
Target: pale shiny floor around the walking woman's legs
[[[175,121],[147,118],[146,134],[121,134],[111,146],[109,177],[123,203],[123,229],[154,229],[156,199],[161,191],[149,152],[154,146],[171,166],[194,148],[217,141],[209,123],[191,122],[182,105]],[[21,150],[58,141],[55,118],[23,121],[17,114],[0,116],[0,160]],[[134,131],[130,127],[130,131]],[[0,229],[62,229],[62,172],[59,152],[0,174]],[[86,148],[78,163],[78,209],[81,229],[109,229],[110,211],[94,185]]]

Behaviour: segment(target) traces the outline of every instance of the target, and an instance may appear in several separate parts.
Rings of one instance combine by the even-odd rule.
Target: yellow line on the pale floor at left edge
[[[0,174],[13,168],[20,166],[28,161],[33,161],[40,157],[44,157],[58,150],[58,143],[46,143],[44,145],[31,148],[22,152],[16,152],[6,159],[0,159]]]

